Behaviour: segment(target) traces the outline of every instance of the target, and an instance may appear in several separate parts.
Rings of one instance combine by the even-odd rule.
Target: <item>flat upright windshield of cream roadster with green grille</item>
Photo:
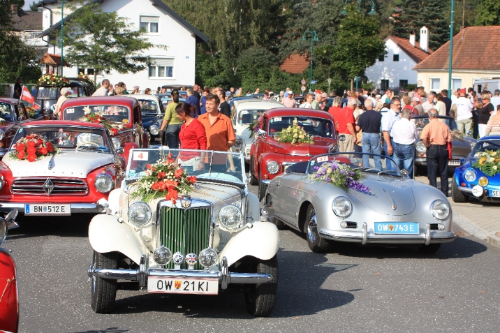
[[[126,179],[146,175],[147,165],[166,161],[169,154],[175,158],[176,164],[180,164],[183,170],[191,176],[196,176],[198,180],[236,184],[240,188],[244,188],[247,184],[242,154],[226,151],[168,149],[168,147],[132,149],[128,156]]]

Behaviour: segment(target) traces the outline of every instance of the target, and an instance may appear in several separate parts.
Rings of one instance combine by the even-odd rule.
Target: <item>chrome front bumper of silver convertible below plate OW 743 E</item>
[[[431,230],[431,225],[427,223],[425,232],[419,235],[377,235],[368,232],[367,223],[363,223],[362,231],[351,230],[328,230],[321,228],[319,235],[325,239],[341,242],[353,242],[361,244],[383,243],[383,244],[425,244],[448,243],[455,239],[455,232],[442,232]]]

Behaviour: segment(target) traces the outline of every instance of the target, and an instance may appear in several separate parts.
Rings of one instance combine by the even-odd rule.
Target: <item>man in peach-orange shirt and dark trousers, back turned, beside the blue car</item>
[[[425,125],[420,140],[427,147],[427,178],[431,186],[437,187],[437,171],[441,175],[441,192],[448,196],[448,142],[451,142],[450,128],[438,120],[438,111],[430,109],[429,124]]]

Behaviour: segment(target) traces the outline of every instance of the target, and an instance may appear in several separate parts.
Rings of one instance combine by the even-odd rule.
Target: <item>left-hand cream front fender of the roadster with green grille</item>
[[[147,253],[147,249],[142,249],[138,235],[125,223],[119,223],[115,215],[94,216],[89,225],[89,242],[99,253],[117,251],[136,264],[140,262],[140,256]]]

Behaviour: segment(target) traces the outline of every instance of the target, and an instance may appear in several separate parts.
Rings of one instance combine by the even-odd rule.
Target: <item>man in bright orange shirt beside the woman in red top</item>
[[[204,113],[198,117],[198,121],[205,127],[207,134],[207,150],[228,151],[236,142],[235,130],[233,124],[228,117],[219,112],[219,97],[213,94],[208,94],[205,101]],[[232,156],[228,156],[232,157]],[[230,170],[234,171],[233,158],[228,158]],[[214,165],[226,166],[226,158],[222,158],[222,154],[217,154],[212,161]]]

